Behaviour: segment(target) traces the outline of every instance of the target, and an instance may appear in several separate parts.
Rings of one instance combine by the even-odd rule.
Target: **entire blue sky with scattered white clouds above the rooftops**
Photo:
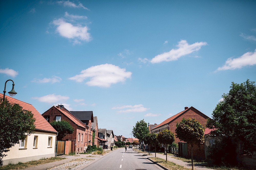
[[[255,1],[1,1],[0,80],[39,113],[93,111],[131,137],[256,81]],[[7,82],[10,91],[12,82]],[[3,92],[2,92],[3,93]],[[8,94],[7,94],[8,95]]]

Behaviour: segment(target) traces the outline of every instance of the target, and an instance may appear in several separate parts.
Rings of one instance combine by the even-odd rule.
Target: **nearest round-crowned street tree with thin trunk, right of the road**
[[[191,163],[193,165],[193,144],[204,142],[205,127],[195,119],[182,119],[180,123],[176,124],[176,137],[191,145]]]

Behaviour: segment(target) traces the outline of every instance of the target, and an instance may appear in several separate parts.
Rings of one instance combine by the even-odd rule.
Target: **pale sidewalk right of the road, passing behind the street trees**
[[[147,153],[143,153],[143,154],[147,154],[147,155],[145,155],[146,158],[155,157],[155,152],[150,152],[150,153],[151,153],[151,155],[148,155],[148,152]],[[140,153],[140,154],[142,154],[142,153]],[[166,155],[162,155],[162,154],[156,153],[156,157],[162,158],[162,159],[166,160]],[[175,163],[177,165],[184,166],[186,168],[190,168],[190,169],[192,168],[191,163],[183,162],[181,160],[178,160],[178,159],[175,159],[175,158],[172,158],[172,157],[174,157],[174,156],[167,155],[167,161],[173,162],[173,163]],[[201,163],[194,164],[194,169],[198,169],[198,170],[215,170],[215,169],[207,168],[204,165],[205,164],[201,164]]]

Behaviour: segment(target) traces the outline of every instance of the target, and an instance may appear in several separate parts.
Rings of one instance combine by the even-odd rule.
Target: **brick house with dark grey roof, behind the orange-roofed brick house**
[[[92,145],[92,133],[93,133],[93,113],[92,111],[70,111],[74,116],[76,116],[83,124],[86,125],[85,130],[85,146]]]

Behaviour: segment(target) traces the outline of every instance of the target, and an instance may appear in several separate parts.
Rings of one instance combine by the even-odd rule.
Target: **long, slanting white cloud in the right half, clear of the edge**
[[[186,40],[181,40],[177,45],[178,49],[172,49],[169,52],[155,56],[151,60],[151,63],[178,60],[178,58],[182,56],[191,54],[194,51],[198,51],[201,48],[201,46],[205,45],[207,45],[206,42],[196,42],[194,44],[189,45]]]

